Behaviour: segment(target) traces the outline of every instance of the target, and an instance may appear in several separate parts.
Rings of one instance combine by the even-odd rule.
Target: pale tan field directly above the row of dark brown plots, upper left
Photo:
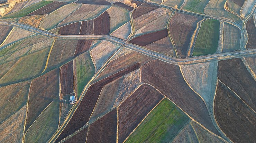
[[[70,23],[90,20],[98,17],[101,13],[106,11],[110,5],[93,5],[83,4],[79,9],[69,15],[57,27],[64,26]]]

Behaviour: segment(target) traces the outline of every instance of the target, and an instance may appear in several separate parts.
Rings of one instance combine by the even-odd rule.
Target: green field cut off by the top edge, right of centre
[[[183,9],[195,13],[204,14],[203,10],[206,7],[209,0],[188,0]]]

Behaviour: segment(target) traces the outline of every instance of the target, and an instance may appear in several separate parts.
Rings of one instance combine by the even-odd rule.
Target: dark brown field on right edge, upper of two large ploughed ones
[[[218,78],[256,111],[256,81],[240,58],[219,61]]]

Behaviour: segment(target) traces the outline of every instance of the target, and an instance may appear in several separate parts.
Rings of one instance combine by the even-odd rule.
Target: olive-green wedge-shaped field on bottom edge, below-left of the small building
[[[31,125],[25,135],[25,143],[45,143],[52,137],[58,129],[59,108],[60,104],[57,96]]]

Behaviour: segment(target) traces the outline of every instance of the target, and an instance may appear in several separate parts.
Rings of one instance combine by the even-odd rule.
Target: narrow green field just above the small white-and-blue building
[[[77,98],[80,97],[84,87],[89,82],[89,80],[93,77],[95,73],[95,68],[92,63],[92,59],[89,52],[86,52],[75,59],[76,63],[76,78],[77,82],[75,83],[77,86]]]

